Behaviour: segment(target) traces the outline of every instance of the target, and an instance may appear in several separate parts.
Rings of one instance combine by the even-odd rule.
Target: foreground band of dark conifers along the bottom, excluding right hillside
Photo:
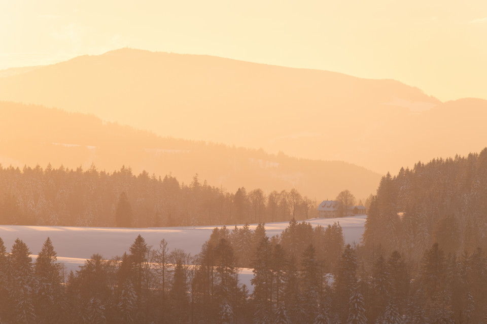
[[[480,248],[456,257],[434,244],[416,270],[398,251],[379,249],[368,264],[339,224],[292,220],[270,238],[260,224],[245,241],[247,230],[215,228],[196,256],[138,235],[123,256],[94,254],[67,277],[49,238],[34,262],[22,240],[7,253],[0,239],[0,322],[460,324],[487,315]],[[239,280],[247,262],[252,287]]]

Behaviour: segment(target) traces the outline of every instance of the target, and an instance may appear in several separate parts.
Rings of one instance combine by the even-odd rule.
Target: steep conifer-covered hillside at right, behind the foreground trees
[[[368,210],[365,249],[398,250],[413,262],[434,242],[457,256],[485,249],[485,197],[487,148],[387,174]]]

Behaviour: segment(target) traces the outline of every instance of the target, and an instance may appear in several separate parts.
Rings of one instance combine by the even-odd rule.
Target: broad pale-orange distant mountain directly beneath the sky
[[[487,136],[485,100],[442,103],[395,80],[132,49],[16,70],[0,77],[0,100],[379,173],[478,151]]]

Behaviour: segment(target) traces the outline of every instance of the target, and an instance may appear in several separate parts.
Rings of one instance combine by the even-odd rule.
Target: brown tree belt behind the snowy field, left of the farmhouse
[[[118,213],[117,213],[118,211]],[[58,169],[0,165],[0,223],[19,225],[159,227],[245,224],[309,219],[316,201],[296,189],[234,193],[176,177],[108,173],[95,166]]]

